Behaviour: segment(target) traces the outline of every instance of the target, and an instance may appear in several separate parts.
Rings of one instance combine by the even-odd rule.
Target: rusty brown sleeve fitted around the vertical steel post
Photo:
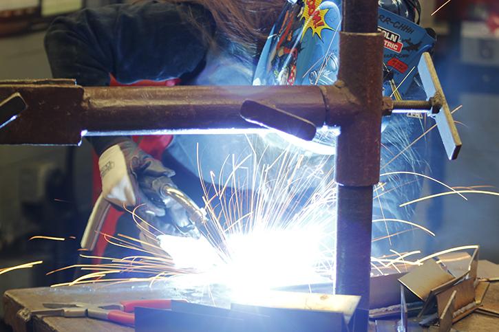
[[[360,50],[362,50],[360,52]],[[336,180],[343,186],[379,181],[382,116],[382,34],[340,34],[339,80],[361,104],[337,142]]]

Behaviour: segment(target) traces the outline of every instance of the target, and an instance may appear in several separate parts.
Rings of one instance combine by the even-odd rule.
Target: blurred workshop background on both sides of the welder
[[[119,1],[1,0],[0,80],[47,78],[43,50],[47,23],[56,14],[83,6]],[[455,113],[463,149],[448,162],[433,137],[430,175],[450,186],[499,187],[499,1],[452,0],[432,16],[443,1],[425,0],[421,25],[438,34],[434,59]],[[47,114],[50,116],[50,114]],[[44,276],[52,267],[73,263],[90,211],[92,155],[78,148],[0,146],[0,267],[43,259],[35,269],[2,276],[0,293],[16,287],[50,285],[68,274]],[[426,193],[442,192],[427,182]],[[482,258],[499,263],[499,197],[467,195],[469,201],[447,196],[420,203],[414,221],[438,239],[414,235],[414,248],[425,253],[455,245],[479,244]],[[76,236],[52,243],[29,241],[32,235]],[[0,312],[1,314],[1,312]]]

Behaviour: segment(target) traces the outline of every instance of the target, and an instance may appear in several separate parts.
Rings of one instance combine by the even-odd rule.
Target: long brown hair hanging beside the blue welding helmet
[[[287,0],[161,0],[170,3],[195,3],[211,12],[217,31],[246,49],[259,51],[266,41]],[[187,19],[198,27],[203,38],[213,41],[187,12]]]

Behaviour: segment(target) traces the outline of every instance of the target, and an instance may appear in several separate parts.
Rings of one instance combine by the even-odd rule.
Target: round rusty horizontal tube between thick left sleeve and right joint
[[[261,129],[240,115],[245,100],[283,109],[322,126],[319,87],[89,87],[81,120],[87,135]]]

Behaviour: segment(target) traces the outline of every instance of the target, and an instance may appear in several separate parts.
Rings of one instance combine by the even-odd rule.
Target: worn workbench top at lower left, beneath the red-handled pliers
[[[213,291],[213,289],[211,289]],[[228,306],[229,302],[220,300],[221,291],[214,291],[217,305]],[[213,293],[211,294],[213,295]],[[31,317],[31,311],[46,309],[43,303],[85,302],[91,304],[117,303],[123,300],[142,300],[153,298],[187,299],[191,302],[213,304],[213,299],[206,294],[206,288],[177,289],[173,283],[97,283],[74,285],[71,287],[39,287],[29,289],[11,289],[3,294],[3,307],[6,324],[20,332],[97,332],[97,331],[134,331],[111,322],[90,318]]]

